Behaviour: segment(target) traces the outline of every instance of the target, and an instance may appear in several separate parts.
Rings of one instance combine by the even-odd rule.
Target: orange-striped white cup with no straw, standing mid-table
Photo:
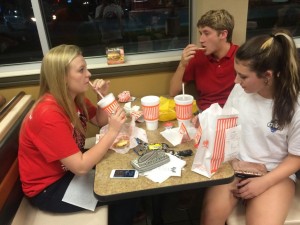
[[[145,96],[141,99],[141,105],[147,130],[156,130],[158,128],[159,97]]]

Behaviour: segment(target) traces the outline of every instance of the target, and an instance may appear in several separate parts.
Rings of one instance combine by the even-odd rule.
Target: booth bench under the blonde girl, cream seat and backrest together
[[[51,213],[33,207],[23,197],[17,159],[19,131],[33,100],[30,95],[15,99],[17,102],[0,120],[0,225],[107,225],[107,205],[94,212]]]

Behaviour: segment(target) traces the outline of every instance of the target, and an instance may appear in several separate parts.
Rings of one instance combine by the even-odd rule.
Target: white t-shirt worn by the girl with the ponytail
[[[276,129],[276,125],[271,123],[273,100],[256,93],[247,94],[239,84],[231,91],[224,107],[227,106],[239,111],[241,160],[264,163],[271,171],[288,153],[300,156],[299,104],[292,122],[284,129]]]

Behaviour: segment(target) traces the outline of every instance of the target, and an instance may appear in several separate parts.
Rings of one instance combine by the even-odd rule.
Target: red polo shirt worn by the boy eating
[[[225,104],[234,86],[234,56],[237,49],[237,45],[231,44],[227,55],[220,60],[197,51],[195,57],[190,60],[183,82],[195,81],[199,95],[197,105],[200,110],[207,109],[213,103],[219,103],[222,107]]]

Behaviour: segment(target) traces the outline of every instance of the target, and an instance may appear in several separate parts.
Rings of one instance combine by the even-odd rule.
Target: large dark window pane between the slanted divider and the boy
[[[180,49],[189,42],[188,1],[48,0],[42,4],[51,47],[76,44],[86,56],[99,56],[110,46],[122,45],[130,54]]]

